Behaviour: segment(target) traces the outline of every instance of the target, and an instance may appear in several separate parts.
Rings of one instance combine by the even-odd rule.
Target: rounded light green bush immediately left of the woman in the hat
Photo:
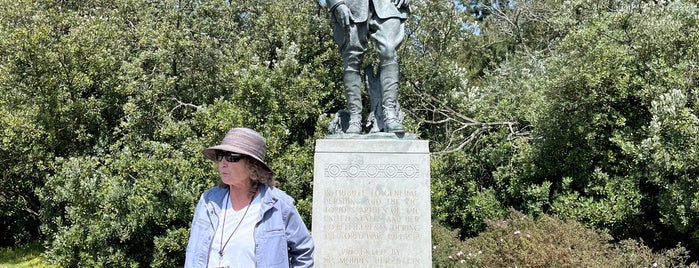
[[[193,153],[145,142],[62,160],[40,192],[51,204],[43,211],[55,213],[45,215],[44,231],[53,234],[49,258],[64,267],[139,266],[154,254],[171,259],[153,265],[183,262],[183,249],[172,244],[186,244],[192,204],[215,178],[203,172],[210,169],[205,162],[185,157]]]

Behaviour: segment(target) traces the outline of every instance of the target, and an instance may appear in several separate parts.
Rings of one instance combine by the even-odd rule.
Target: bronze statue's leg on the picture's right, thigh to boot
[[[397,49],[403,42],[405,30],[398,18],[376,19],[371,25],[372,38],[379,52],[379,79],[383,108],[384,132],[404,132],[398,118],[398,81],[400,67]],[[374,31],[375,30],[375,31]]]

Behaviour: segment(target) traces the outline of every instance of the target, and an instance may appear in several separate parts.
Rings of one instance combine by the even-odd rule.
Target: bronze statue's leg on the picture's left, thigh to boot
[[[367,23],[352,24],[347,28],[333,25],[333,31],[342,55],[342,82],[350,114],[345,133],[358,134],[362,132],[362,76],[359,68],[368,45]]]

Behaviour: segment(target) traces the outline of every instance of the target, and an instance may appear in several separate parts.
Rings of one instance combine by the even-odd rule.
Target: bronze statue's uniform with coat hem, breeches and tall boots
[[[360,67],[364,53],[368,47],[368,37],[374,40],[379,56],[379,81],[382,88],[382,107],[387,121],[385,131],[402,132],[403,126],[390,127],[390,120],[396,118],[396,103],[398,93],[398,53],[397,49],[403,42],[405,30],[403,22],[410,14],[407,6],[398,8],[390,0],[329,0],[333,26],[333,38],[340,47],[343,59],[343,82],[347,97],[347,110],[350,113],[350,124],[355,123],[361,131],[362,78]],[[351,11],[350,25],[343,25],[334,14],[339,5],[345,5]],[[350,130],[349,132],[354,132]]]

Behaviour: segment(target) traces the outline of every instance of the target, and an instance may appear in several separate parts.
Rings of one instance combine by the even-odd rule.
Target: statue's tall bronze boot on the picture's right
[[[381,107],[383,108],[383,131],[403,133],[405,128],[398,118],[398,63],[390,63],[380,67]]]

